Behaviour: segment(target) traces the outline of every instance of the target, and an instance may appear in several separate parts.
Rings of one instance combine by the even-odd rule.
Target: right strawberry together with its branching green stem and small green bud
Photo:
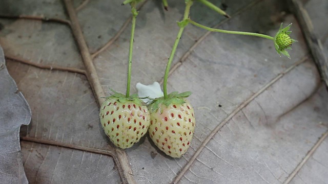
[[[220,8],[216,7],[214,4],[208,2],[207,0],[195,0],[196,2],[202,3],[219,14],[230,17],[226,12],[222,11]],[[162,1],[165,9],[167,9],[168,4],[166,1]],[[181,35],[185,27],[191,23],[202,29],[213,32],[221,32],[228,34],[240,34],[249,36],[258,36],[262,38],[267,38],[274,41],[275,49],[279,55],[284,55],[290,58],[290,55],[286,49],[291,49],[292,43],[296,40],[292,39],[289,35],[291,24],[285,28],[280,26],[279,31],[275,37],[271,37],[259,33],[249,33],[240,31],[227,31],[220,29],[213,29],[197,22],[193,21],[189,17],[190,8],[193,5],[193,0],[185,0],[186,9],[183,15],[183,19],[177,22],[180,30],[175,39],[167,67],[165,70],[165,76],[163,80],[163,97],[151,99],[153,100],[149,106],[151,112],[151,123],[149,126],[149,133],[152,141],[155,145],[165,152],[167,155],[172,157],[180,157],[182,154],[186,153],[189,148],[192,135],[195,129],[195,115],[191,104],[187,101],[187,97],[191,95],[190,91],[179,94],[178,92],[173,92],[168,95],[167,82],[170,72],[171,63],[175,55],[178,43],[181,39]]]

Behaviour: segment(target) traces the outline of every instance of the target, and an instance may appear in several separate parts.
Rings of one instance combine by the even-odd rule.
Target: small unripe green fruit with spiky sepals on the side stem
[[[289,31],[292,24],[288,25],[285,28],[282,28],[282,23],[279,28],[279,31],[275,35],[274,43],[275,43],[275,49],[277,53],[281,56],[287,56],[288,58],[291,58],[291,56],[288,54],[288,52],[285,49],[292,50],[291,45],[297,40],[292,39],[289,35],[292,33],[292,31]]]

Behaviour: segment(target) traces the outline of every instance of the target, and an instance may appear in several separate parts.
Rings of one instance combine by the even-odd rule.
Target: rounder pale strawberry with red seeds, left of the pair
[[[130,148],[147,132],[150,114],[136,96],[115,93],[100,107],[100,123],[115,146]]]

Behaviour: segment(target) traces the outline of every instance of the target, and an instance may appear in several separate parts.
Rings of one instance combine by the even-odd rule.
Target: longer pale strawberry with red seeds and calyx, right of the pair
[[[160,150],[172,157],[181,157],[187,152],[194,134],[194,109],[184,98],[189,95],[174,92],[169,99],[155,99],[149,106],[149,135]]]

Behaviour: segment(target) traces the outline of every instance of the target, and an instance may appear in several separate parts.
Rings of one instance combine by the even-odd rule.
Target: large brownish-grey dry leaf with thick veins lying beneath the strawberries
[[[328,94],[297,20],[285,13],[285,1],[226,1],[232,15],[229,20],[195,2],[190,16],[201,24],[274,35],[281,21],[292,22],[292,37],[299,42],[288,59],[276,54],[271,40],[208,34],[188,26],[168,83],[169,91],[193,91],[189,99],[195,108],[196,130],[191,147],[179,159],[163,154],[148,135],[126,150],[126,155],[117,154],[99,124],[98,97],[109,92],[108,87],[125,91],[129,6],[121,6],[118,0],[74,1],[76,22],[73,9],[67,6],[70,1],[64,2],[0,3],[0,15],[7,17],[0,19],[0,44],[8,56],[9,73],[33,112],[31,124],[20,132],[25,140],[24,167],[31,183],[328,181],[324,174],[327,139],[322,137],[327,134]],[[220,6],[221,1],[213,2]],[[140,9],[132,93],[137,82],[162,80],[178,32],[176,21],[185,6],[182,0],[169,3],[168,12],[163,11],[160,1],[147,1]],[[311,0],[306,8],[314,13],[310,15],[315,17],[317,33],[326,35],[319,23],[325,20],[324,6],[313,11],[318,3],[328,5]],[[8,18],[19,15],[55,19]],[[318,37],[326,46],[326,36]],[[113,38],[117,39],[102,52],[85,52],[84,41],[88,52],[95,53]],[[39,68],[48,66],[52,70]],[[315,151],[312,156],[310,150]],[[125,157],[130,164],[119,164]],[[301,164],[304,160],[305,165]],[[295,171],[299,171],[296,177]]]

